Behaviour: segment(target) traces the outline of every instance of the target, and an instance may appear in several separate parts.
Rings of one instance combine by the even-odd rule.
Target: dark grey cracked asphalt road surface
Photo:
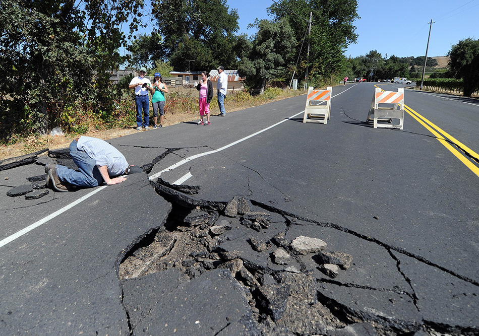
[[[198,192],[155,190],[146,174],[133,175],[0,247],[0,330],[476,334],[479,179],[408,114],[402,131],[366,125],[373,91],[364,83],[334,88],[327,125],[304,124],[302,114],[287,119],[304,110],[301,96],[213,117],[207,127],[183,123],[111,140],[131,164],[151,169],[152,182],[159,176],[173,183],[189,173],[183,184],[199,186]],[[478,152],[479,106],[409,91],[405,102]],[[51,159],[0,171],[0,190],[5,195],[29,184],[26,177],[42,174],[45,160]],[[1,239],[92,190],[2,197]],[[224,206],[236,195],[269,213],[269,226],[257,231],[241,216],[225,217]],[[126,255],[195,207],[231,230],[219,238],[200,229],[169,230],[199,230],[208,255],[169,253],[162,258],[176,266],[159,259],[157,272],[119,279]],[[351,255],[353,264],[330,278],[315,253],[294,255],[286,244],[294,260],[279,266],[270,256],[281,247],[273,239],[279,232],[288,243],[320,238],[328,249]],[[264,243],[261,252],[253,250],[253,236]],[[193,261],[184,265],[187,259]],[[234,260],[243,268],[221,268]],[[292,291],[294,284],[305,291]],[[296,301],[279,305],[281,293]],[[300,305],[301,298],[310,304]],[[298,326],[298,312],[321,323]]]

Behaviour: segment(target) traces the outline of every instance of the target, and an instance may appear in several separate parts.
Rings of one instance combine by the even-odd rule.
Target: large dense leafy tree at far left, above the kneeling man
[[[135,30],[142,6],[124,0],[2,0],[2,129],[18,130],[23,121],[45,133],[48,111],[78,97],[94,100],[99,113],[108,110],[109,70],[125,60],[118,52],[127,45],[121,25],[130,22]]]

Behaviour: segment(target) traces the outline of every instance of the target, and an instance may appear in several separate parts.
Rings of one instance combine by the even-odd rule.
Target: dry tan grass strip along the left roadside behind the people
[[[182,92],[191,92],[191,94],[196,95],[198,91],[196,89],[179,89]],[[194,91],[193,91],[194,90]],[[302,91],[291,91],[290,93],[285,92],[284,94],[277,96],[275,98],[269,99],[269,100],[264,100],[264,101],[252,101],[252,102],[234,102],[234,101],[228,101],[226,104],[226,110],[227,112],[233,112],[237,110],[242,110],[248,107],[252,106],[258,106],[266,103],[270,103],[273,101],[297,96],[300,94],[304,94]],[[214,107],[211,108],[210,113],[212,115],[218,114],[219,110],[217,106],[215,105]],[[151,119],[151,118],[150,118]],[[186,113],[178,113],[175,112],[174,114],[171,113],[165,113],[165,119],[163,122],[163,126],[169,126],[173,124],[177,124],[180,122],[186,122],[186,121],[191,121],[199,119],[199,112],[198,111],[191,111],[191,112],[186,112]],[[158,117],[159,121],[159,117]],[[96,129],[91,129],[87,133],[84,134],[84,136],[87,137],[94,137],[94,138],[99,138],[102,140],[109,140],[109,139],[114,139],[114,138],[119,138],[123,136],[127,136],[133,133],[137,133],[138,130],[136,130],[136,124],[131,125],[131,127],[125,127],[125,128],[112,128],[112,129],[107,129],[107,130],[96,130]],[[62,137],[52,137],[49,135],[46,136],[31,136],[26,138],[24,141],[18,142],[14,145],[0,145],[0,160],[8,159],[8,158],[13,158],[21,155],[25,155],[28,153],[40,151],[42,149],[48,148],[50,150],[52,149],[59,149],[59,148],[67,148],[70,143],[72,142],[73,139],[77,138],[78,134],[67,134]]]

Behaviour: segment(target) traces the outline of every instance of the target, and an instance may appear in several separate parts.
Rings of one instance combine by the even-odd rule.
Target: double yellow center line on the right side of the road
[[[457,139],[449,135],[449,133],[432,123],[430,120],[423,117],[421,114],[414,111],[409,106],[404,105],[404,110],[409,113],[409,115],[411,115],[414,119],[416,119],[417,122],[422,124],[427,130],[433,133],[436,139],[444,147],[446,147],[452,154],[456,156],[456,158],[461,160],[461,162],[465,164],[467,168],[469,168],[474,174],[479,177],[479,167],[472,163],[471,160],[464,153],[467,153],[472,160],[475,160],[475,162],[479,162],[479,154],[475,153],[469,147],[459,142]],[[460,151],[457,150],[455,146],[452,146],[450,144],[451,142],[455,144]]]

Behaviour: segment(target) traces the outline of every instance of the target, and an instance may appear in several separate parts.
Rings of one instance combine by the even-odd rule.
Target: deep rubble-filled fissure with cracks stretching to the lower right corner
[[[327,241],[315,237],[286,235],[294,226],[305,226],[298,223],[300,220],[306,225],[333,228],[366,238],[361,234],[333,223],[308,222],[308,219],[241,196],[225,204],[182,192],[191,188],[195,193],[197,187],[183,186],[184,190],[178,191],[161,179],[150,183],[160,196],[170,201],[172,211],[164,226],[145,236],[125,254],[119,265],[122,283],[172,269],[179,271],[180,282],[186,283],[201,279],[208,272],[223,270],[243,289],[249,313],[236,318],[241,317],[244,321],[246,334],[334,334],[338,330],[348,330],[358,334],[392,335],[422,330],[436,335],[438,332],[474,334],[479,331],[476,326],[464,328],[385,316],[344,304],[328,295],[325,286],[386,292],[410,301],[418,311],[416,293],[401,271],[399,259],[391,255],[392,247],[384,243],[379,245],[386,248],[394,261],[397,272],[404,279],[403,288],[368,288],[341,283],[334,278],[348,272],[354,264],[351,255],[328,250]],[[378,243],[372,237],[366,240]],[[129,315],[132,314],[130,311]],[[140,320],[136,318],[136,322]],[[137,324],[130,324],[133,333],[138,331]],[[229,322],[221,330],[228,327]]]

